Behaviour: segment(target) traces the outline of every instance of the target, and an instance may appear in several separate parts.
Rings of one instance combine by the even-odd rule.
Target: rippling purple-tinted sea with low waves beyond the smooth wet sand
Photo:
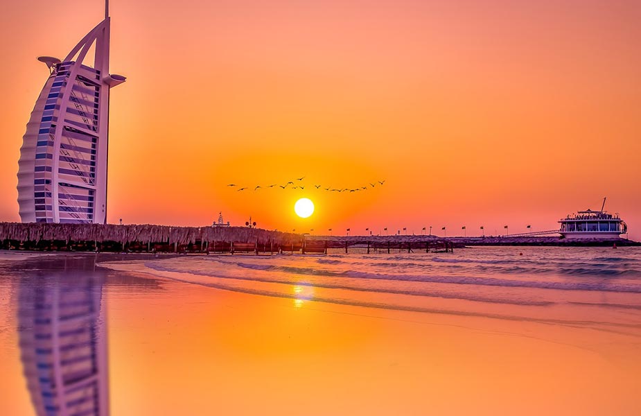
[[[454,253],[224,255],[145,262],[228,291],[376,309],[598,326],[641,324],[638,248],[477,247]]]

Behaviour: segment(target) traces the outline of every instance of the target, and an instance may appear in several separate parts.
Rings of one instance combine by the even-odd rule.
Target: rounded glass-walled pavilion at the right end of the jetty
[[[566,239],[619,239],[628,232],[628,226],[619,214],[604,211],[606,198],[603,198],[601,211],[579,211],[559,220],[559,233]]]

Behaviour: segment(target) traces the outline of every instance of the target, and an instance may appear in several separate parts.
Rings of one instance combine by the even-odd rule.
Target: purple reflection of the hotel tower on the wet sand
[[[22,279],[18,332],[37,415],[108,415],[107,334],[100,277]]]

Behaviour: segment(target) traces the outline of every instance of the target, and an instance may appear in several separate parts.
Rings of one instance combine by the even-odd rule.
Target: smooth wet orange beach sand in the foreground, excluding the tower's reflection
[[[638,333],[235,293],[139,261],[109,268],[112,415],[641,413]],[[4,323],[0,414],[30,415]]]

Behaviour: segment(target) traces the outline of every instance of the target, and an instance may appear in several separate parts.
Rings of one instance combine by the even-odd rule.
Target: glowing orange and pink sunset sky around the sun
[[[102,19],[95,3],[0,6],[0,220],[19,220],[21,137],[47,76],[35,57],[64,58]],[[494,234],[607,196],[641,239],[641,4],[453,3],[112,0],[112,72],[128,82],[112,91],[109,222],[222,211],[315,234]],[[305,191],[225,186],[301,176]]]

